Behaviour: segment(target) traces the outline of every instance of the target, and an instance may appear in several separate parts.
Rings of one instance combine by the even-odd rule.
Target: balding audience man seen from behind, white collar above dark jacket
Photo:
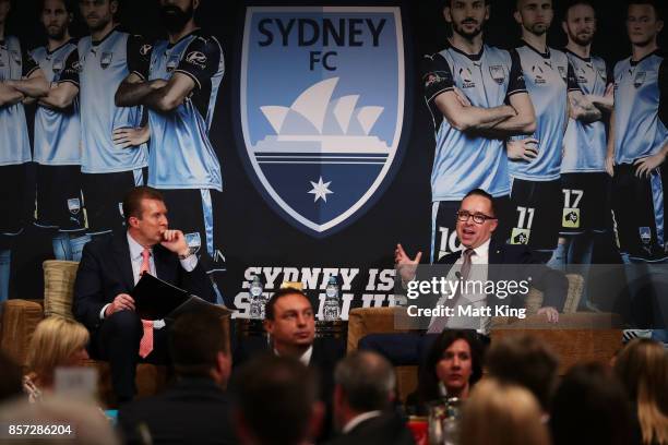
[[[411,445],[405,423],[389,412],[394,400],[394,369],[375,352],[353,352],[334,372],[334,421],[341,436],[332,445]]]

